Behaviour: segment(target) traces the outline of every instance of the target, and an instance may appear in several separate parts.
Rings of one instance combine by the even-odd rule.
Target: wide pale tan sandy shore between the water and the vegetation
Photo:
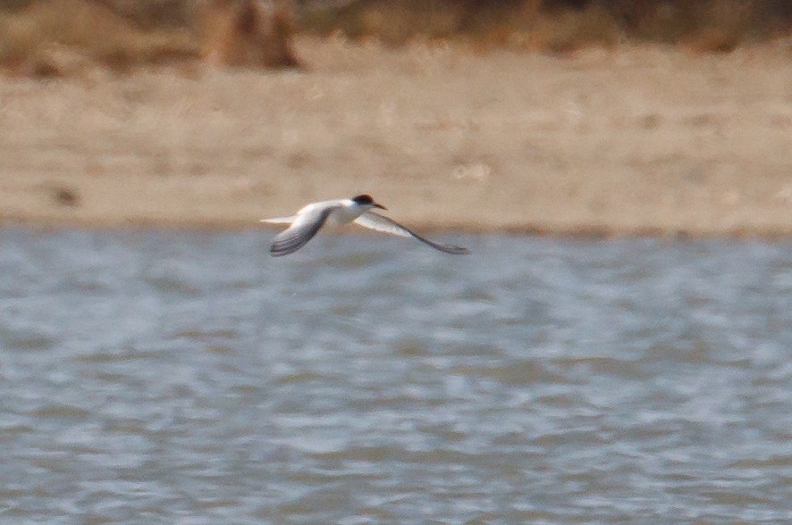
[[[792,234],[788,41],[295,47],[305,71],[0,79],[0,220],[259,228],[367,192],[420,229]]]

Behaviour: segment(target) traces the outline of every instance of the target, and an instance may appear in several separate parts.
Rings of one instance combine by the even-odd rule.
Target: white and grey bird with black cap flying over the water
[[[338,226],[349,222],[355,222],[365,228],[375,229],[391,235],[413,237],[425,245],[432,246],[435,250],[440,250],[446,254],[461,255],[470,253],[468,248],[440,245],[425,237],[421,237],[398,222],[373,212],[374,208],[387,210],[382,204],[376,203],[372,196],[364,194],[350,199],[334,199],[308,204],[291,217],[262,219],[261,222],[290,224],[289,228],[284,229],[273,239],[273,244],[270,246],[270,254],[274,257],[293,254],[299,248],[305,246],[325,224]]]

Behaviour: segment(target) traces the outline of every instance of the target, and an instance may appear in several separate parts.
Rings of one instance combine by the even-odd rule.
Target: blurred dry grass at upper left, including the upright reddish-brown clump
[[[258,0],[9,0],[0,8],[0,68],[71,76],[153,63],[297,65],[291,16]]]

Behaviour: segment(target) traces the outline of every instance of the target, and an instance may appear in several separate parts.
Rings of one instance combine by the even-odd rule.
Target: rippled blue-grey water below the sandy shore
[[[0,521],[792,520],[788,241],[271,237],[0,230]]]

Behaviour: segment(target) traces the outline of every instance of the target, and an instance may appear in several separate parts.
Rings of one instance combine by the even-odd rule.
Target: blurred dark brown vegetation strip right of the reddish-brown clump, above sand
[[[389,44],[460,37],[484,46],[567,51],[620,40],[729,51],[792,29],[787,0],[361,0],[319,7],[303,28]]]

